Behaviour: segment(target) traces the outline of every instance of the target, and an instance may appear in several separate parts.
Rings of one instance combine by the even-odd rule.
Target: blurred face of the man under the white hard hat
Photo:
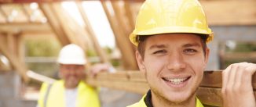
[[[85,67],[83,65],[61,64],[60,75],[64,79],[66,88],[75,88],[84,77]]]

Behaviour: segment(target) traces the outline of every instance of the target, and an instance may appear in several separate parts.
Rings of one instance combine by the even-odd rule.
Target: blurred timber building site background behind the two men
[[[70,43],[86,51],[90,65],[109,62],[118,72],[138,70],[136,48],[128,37],[142,2],[0,0],[0,106],[35,107],[42,80],[31,79],[27,70],[58,79],[57,55]],[[207,70],[222,70],[233,62],[255,63],[256,1],[199,2],[214,31]],[[126,106],[141,98],[110,89],[101,95],[104,107]]]

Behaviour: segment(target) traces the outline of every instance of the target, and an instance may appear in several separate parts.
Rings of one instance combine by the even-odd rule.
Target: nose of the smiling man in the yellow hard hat
[[[182,70],[186,67],[185,60],[179,52],[173,52],[168,56],[166,67],[171,71]]]

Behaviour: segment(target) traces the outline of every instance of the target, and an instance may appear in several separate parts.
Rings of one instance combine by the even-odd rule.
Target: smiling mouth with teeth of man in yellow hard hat
[[[170,82],[171,84],[179,85],[184,83],[190,77],[181,77],[181,78],[170,78],[170,77],[162,77],[166,82]]]

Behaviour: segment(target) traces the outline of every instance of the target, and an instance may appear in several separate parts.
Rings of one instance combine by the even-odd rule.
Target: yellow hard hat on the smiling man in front
[[[203,7],[197,0],[146,0],[137,16],[130,41],[138,45],[137,35],[192,33],[214,37]]]

